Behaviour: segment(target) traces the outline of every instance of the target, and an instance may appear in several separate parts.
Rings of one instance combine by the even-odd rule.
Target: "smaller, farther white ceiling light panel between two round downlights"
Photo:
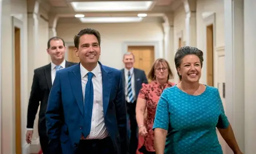
[[[136,16],[116,16],[116,17],[84,17],[80,18],[83,23],[121,23],[121,22],[141,22],[141,17]]]

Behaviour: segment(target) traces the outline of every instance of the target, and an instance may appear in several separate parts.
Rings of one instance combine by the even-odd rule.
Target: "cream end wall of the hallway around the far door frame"
[[[60,23],[56,27],[57,36],[72,43],[73,37],[84,28],[94,28],[101,33],[101,62],[114,68],[122,68],[122,44],[124,42],[159,42],[163,52],[163,31],[160,23],[105,23],[72,24]],[[68,30],[67,30],[68,29]],[[156,54],[160,57],[160,53]],[[115,59],[115,60],[113,60]]]

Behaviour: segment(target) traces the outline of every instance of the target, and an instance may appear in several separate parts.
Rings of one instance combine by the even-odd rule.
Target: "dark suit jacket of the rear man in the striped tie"
[[[124,68],[121,69],[121,72],[122,72],[122,75],[123,75],[123,85],[124,85],[124,88],[125,88],[125,71],[124,71]],[[137,97],[139,95],[139,92],[140,92],[140,89],[142,87],[142,83],[148,83],[148,80],[147,80],[147,77],[146,77],[146,74],[143,70],[141,69],[138,69],[138,68],[134,68],[133,69],[133,73],[134,73],[134,87],[135,87],[135,100],[137,100]]]

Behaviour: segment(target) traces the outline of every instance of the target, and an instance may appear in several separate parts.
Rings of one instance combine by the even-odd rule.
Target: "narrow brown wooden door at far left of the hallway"
[[[14,28],[14,57],[15,57],[15,145],[16,154],[22,154],[21,146],[21,30]]]

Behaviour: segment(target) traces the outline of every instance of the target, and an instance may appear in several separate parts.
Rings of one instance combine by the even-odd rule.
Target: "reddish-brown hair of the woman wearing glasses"
[[[168,74],[169,75],[168,75],[168,79],[167,80],[173,79],[173,73],[171,71],[171,67],[169,66],[168,61],[165,60],[165,59],[156,59],[156,61],[154,62],[153,66],[151,68],[151,70],[148,73],[148,79],[150,79],[151,81],[156,80],[155,69],[156,69],[157,66],[159,66],[159,64],[163,65],[164,63],[166,63],[166,65],[168,67]]]

